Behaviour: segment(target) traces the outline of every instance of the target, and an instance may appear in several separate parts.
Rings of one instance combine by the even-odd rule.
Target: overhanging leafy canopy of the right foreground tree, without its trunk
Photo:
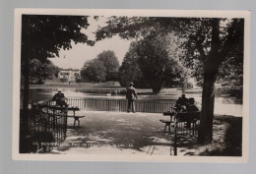
[[[107,24],[96,31],[96,40],[115,34],[126,39],[143,38],[151,34],[152,30],[162,35],[174,32],[183,39],[182,46],[186,53],[183,56],[184,63],[193,69],[198,61],[201,64],[209,62],[208,56],[212,49],[218,50],[221,55],[220,60],[217,60],[219,64],[231,54],[230,50],[236,55],[243,55],[243,19],[110,17]],[[218,28],[215,35],[214,28]]]

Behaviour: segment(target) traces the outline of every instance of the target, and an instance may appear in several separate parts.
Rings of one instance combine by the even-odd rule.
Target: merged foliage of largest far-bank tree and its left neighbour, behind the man
[[[180,52],[173,39],[172,34],[152,31],[132,42],[119,70],[120,84],[127,86],[134,82],[137,87],[148,86],[158,93],[164,83],[184,75],[185,68],[177,61]]]

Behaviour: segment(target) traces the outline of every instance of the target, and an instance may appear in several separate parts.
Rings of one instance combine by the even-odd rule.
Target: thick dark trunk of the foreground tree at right
[[[210,144],[213,141],[213,121],[215,108],[215,82],[222,63],[220,50],[220,19],[212,21],[211,51],[204,64],[204,84],[202,94],[202,115],[198,132],[199,144]]]

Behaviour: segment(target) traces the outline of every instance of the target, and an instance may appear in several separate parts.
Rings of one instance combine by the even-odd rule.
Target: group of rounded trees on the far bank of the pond
[[[130,44],[120,67],[115,53],[107,50],[87,61],[81,76],[90,82],[118,81],[121,87],[133,82],[135,87],[150,87],[158,93],[162,87],[171,87],[175,80],[188,79],[188,69],[178,59],[182,54],[179,44],[173,34],[152,32]]]

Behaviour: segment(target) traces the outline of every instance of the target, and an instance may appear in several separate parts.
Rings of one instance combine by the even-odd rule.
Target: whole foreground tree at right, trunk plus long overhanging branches
[[[222,63],[235,47],[243,50],[243,19],[218,18],[143,18],[111,17],[96,33],[97,40],[119,34],[123,38],[140,37],[158,30],[175,32],[184,39],[185,64],[203,70],[202,116],[198,143],[213,140],[215,82]],[[181,57],[182,58],[182,57]]]

